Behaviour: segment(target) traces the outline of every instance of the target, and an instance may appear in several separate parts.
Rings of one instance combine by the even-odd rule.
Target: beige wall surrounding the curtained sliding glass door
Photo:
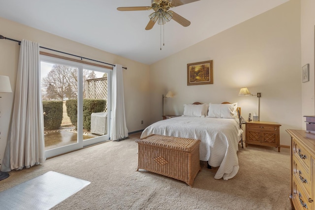
[[[124,70],[124,91],[128,131],[132,132],[141,130],[149,125],[149,65],[142,64],[133,60],[128,60],[2,18],[0,18],[0,34],[16,40],[27,39],[35,41],[43,47],[48,47],[74,55],[104,61],[107,63],[119,63],[122,64],[124,67],[127,67],[128,69]],[[110,41],[106,40],[106,36],[104,37],[104,41]],[[0,93],[0,96],[2,96],[2,98],[0,98],[1,163],[8,135],[10,116],[12,113],[20,47],[17,42],[1,39],[0,49],[0,75],[6,75],[10,77],[13,90],[13,93]],[[141,124],[141,120],[144,120],[144,124]]]

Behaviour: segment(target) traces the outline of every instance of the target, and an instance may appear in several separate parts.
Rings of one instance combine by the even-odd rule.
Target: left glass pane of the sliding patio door
[[[41,61],[45,150],[77,143],[78,68]]]

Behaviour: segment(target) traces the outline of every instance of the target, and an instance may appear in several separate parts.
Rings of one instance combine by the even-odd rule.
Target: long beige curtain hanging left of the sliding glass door
[[[21,170],[45,161],[39,62],[39,44],[22,40],[13,116],[1,171]]]

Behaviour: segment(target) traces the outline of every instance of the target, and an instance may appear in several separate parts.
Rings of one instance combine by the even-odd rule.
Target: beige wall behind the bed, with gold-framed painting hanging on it
[[[300,1],[290,0],[150,66],[152,122],[164,114],[183,114],[183,104],[238,102],[242,116],[257,112],[256,96],[238,96],[242,87],[261,92],[260,120],[301,129]],[[187,86],[187,63],[213,60],[213,85]],[[314,88],[314,87],[313,87]],[[313,107],[314,108],[314,107]]]

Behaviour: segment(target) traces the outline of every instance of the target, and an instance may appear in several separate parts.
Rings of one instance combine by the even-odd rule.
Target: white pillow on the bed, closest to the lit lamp
[[[234,118],[233,104],[209,104],[209,118]]]

